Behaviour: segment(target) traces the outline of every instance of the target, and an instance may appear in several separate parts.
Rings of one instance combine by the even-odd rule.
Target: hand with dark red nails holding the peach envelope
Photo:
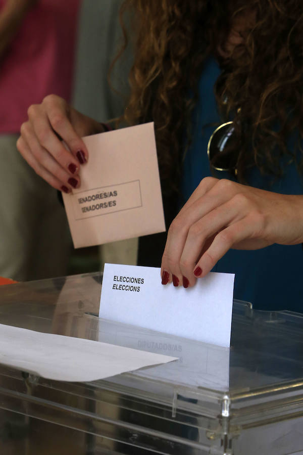
[[[79,188],[79,168],[88,159],[81,137],[103,131],[96,120],[76,111],[62,98],[48,95],[41,104],[29,107],[17,148],[49,185],[69,193]]]

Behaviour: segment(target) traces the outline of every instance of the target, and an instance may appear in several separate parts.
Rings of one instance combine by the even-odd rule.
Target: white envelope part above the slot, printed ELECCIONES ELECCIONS
[[[233,286],[234,274],[184,289],[163,286],[157,267],[105,264],[99,317],[229,347]]]

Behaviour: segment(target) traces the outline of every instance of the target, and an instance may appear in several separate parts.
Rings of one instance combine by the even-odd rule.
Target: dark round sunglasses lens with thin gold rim
[[[209,143],[209,159],[218,170],[235,169],[237,150],[232,122],[219,126],[214,132]]]

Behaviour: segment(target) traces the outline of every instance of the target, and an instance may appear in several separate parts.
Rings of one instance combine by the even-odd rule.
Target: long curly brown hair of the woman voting
[[[300,0],[125,0],[120,12],[125,45],[127,12],[132,17],[134,63],[124,119],[129,124],[155,122],[164,191],[178,187],[184,131],[188,145],[204,62],[210,54],[220,59],[218,49],[224,48],[232,24],[239,15],[251,12],[254,21],[232,54],[221,59],[222,73],[215,84],[222,119],[234,119],[238,178],[245,181],[246,170],[255,165],[280,176],[284,156],[302,169],[298,159],[303,136]],[[287,138],[294,130],[299,153],[287,149]]]

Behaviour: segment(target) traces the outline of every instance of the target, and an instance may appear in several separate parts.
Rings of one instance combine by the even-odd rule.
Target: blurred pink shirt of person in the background
[[[18,132],[46,95],[70,100],[80,1],[40,0],[25,16],[0,61],[1,133]]]

